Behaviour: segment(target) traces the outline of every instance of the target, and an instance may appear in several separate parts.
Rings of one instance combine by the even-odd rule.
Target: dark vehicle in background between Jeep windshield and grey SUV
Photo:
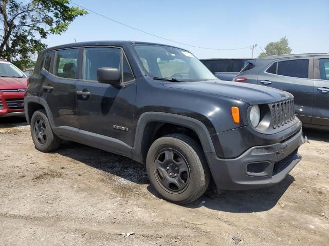
[[[219,79],[232,81],[233,78],[253,58],[217,58],[200,59],[202,63]]]

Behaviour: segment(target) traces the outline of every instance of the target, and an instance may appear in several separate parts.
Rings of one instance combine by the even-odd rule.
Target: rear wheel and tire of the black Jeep
[[[61,145],[61,139],[52,132],[44,109],[37,110],[32,115],[31,136],[35,149],[41,152],[56,150]]]

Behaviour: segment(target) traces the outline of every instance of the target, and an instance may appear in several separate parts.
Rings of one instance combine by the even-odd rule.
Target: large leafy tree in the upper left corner
[[[69,0],[1,0],[0,56],[28,68],[33,65],[31,56],[47,47],[43,39],[65,32],[76,17],[85,14],[70,7]]]

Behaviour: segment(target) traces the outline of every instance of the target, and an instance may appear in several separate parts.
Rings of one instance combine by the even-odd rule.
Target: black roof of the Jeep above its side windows
[[[58,49],[65,49],[65,48],[82,47],[82,46],[97,46],[97,45],[101,46],[101,45],[104,45],[104,46],[123,47],[125,45],[132,45],[132,44],[163,45],[163,44],[157,44],[157,43],[137,42],[137,41],[100,40],[100,41],[87,41],[87,42],[79,42],[79,43],[71,43],[71,44],[53,46],[53,47],[49,47],[47,49],[44,49],[41,52],[48,51],[48,50],[58,50]],[[163,45],[163,46],[170,46],[170,45]],[[175,47],[175,46],[170,46],[170,47],[178,48],[178,47]],[[182,49],[182,48],[178,48],[178,49]],[[185,49],[182,49],[182,50],[185,50]]]

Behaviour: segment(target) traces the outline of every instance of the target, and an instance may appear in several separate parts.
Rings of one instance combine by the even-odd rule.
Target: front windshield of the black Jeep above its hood
[[[179,81],[218,79],[186,50],[162,45],[134,45],[134,48],[141,65],[154,78]]]

